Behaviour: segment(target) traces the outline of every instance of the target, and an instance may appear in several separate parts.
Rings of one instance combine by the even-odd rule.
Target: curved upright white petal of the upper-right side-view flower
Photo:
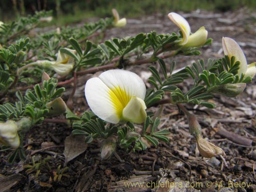
[[[187,38],[191,33],[191,29],[187,20],[181,15],[174,12],[169,13],[168,17],[170,20],[172,20],[173,23],[175,23],[180,28],[183,35],[181,45],[185,45],[187,43]]]

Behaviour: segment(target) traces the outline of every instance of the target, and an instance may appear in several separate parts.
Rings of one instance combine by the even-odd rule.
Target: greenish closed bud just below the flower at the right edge
[[[212,89],[211,93],[218,93],[227,97],[236,97],[240,93],[244,91],[246,87],[246,83],[227,83],[222,84],[221,86],[216,86],[214,89]]]

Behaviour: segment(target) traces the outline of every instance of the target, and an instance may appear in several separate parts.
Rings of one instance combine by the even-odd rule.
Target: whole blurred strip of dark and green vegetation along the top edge
[[[35,11],[54,10],[54,15],[65,14],[65,22],[79,22],[81,19],[98,16],[111,16],[116,8],[120,15],[136,17],[146,14],[196,9],[227,11],[246,6],[256,8],[254,0],[12,0],[0,1],[0,20],[12,20],[16,16],[33,14]],[[69,17],[67,17],[69,16]],[[63,24],[63,23],[61,23]]]

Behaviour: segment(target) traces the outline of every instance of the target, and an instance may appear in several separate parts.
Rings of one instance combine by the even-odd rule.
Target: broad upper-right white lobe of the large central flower
[[[109,70],[101,73],[99,78],[111,90],[120,88],[130,97],[129,100],[132,97],[145,98],[145,83],[137,74],[131,71],[121,69]]]

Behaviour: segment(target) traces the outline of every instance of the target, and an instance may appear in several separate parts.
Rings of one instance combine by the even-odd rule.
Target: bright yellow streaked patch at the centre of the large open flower
[[[111,89],[109,91],[109,96],[118,118],[121,118],[123,109],[125,108],[127,103],[129,103],[132,96],[127,94],[127,92],[121,89],[120,86]]]

